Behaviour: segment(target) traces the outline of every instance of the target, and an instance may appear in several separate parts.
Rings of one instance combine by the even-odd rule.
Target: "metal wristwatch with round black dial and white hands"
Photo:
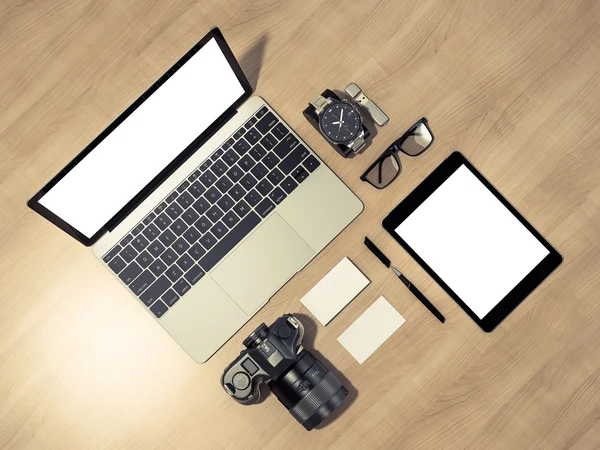
[[[365,147],[365,130],[358,108],[345,100],[319,95],[310,104],[315,108],[319,131],[328,141],[359,153]]]

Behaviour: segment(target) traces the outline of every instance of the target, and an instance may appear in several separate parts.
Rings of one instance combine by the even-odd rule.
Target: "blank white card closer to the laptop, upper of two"
[[[325,326],[370,282],[346,257],[308,291],[300,302]]]

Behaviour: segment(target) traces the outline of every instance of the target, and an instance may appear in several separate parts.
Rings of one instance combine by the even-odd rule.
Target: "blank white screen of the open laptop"
[[[39,198],[43,207],[91,238],[245,93],[214,37],[178,65]]]

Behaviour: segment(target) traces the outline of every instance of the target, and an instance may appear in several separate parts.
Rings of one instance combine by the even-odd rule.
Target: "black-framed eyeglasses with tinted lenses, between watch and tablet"
[[[402,137],[396,140],[384,151],[377,160],[360,176],[377,189],[384,189],[398,178],[402,171],[402,164],[398,152],[408,156],[418,156],[431,147],[433,133],[425,117],[408,129]]]

